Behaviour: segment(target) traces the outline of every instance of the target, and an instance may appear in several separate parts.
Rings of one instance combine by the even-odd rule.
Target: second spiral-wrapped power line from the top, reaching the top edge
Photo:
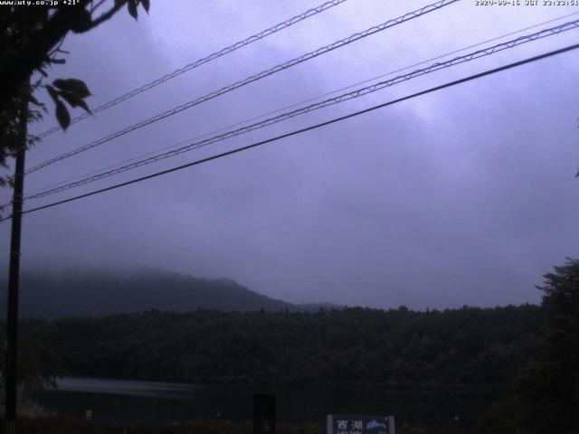
[[[451,5],[452,3],[455,3],[458,1],[460,1],[460,0],[439,0],[438,2],[433,3],[432,5],[423,6],[422,8],[417,9],[416,11],[409,12],[407,14],[403,14],[402,16],[399,16],[398,18],[394,18],[392,20],[389,20],[383,24],[378,24],[378,25],[375,25],[373,27],[370,27],[369,29],[366,29],[364,32],[354,33],[354,34],[348,36],[347,38],[344,38],[344,39],[339,40],[337,42],[330,43],[329,45],[318,48],[318,50],[315,50],[313,52],[308,52],[307,54],[304,54],[302,56],[299,56],[298,58],[292,59],[291,61],[286,61],[285,63],[281,63],[277,66],[274,66],[273,68],[271,68],[269,70],[261,71],[255,75],[252,75],[251,77],[247,77],[243,80],[237,81],[237,82],[233,83],[232,85],[226,86],[220,90],[214,90],[213,92],[211,92],[207,95],[204,95],[203,97],[194,99],[194,100],[189,101],[189,102],[185,102],[185,104],[177,106],[175,109],[167,110],[163,113],[158,114],[157,116],[154,116],[152,118],[148,118],[148,119],[141,121],[141,122],[138,122],[137,124],[134,124],[130,127],[126,127],[124,129],[121,129],[121,130],[117,131],[116,133],[110,134],[107,137],[102,137],[99,140],[95,140],[94,142],[90,142],[87,145],[81,146],[77,149],[73,149],[67,153],[62,154],[61,156],[55,156],[54,158],[52,158],[50,160],[47,160],[39,165],[35,165],[32,168],[28,169],[26,171],[26,175],[29,175],[29,174],[31,174],[39,169],[42,169],[43,167],[46,167],[47,165],[52,165],[58,161],[65,159],[65,158],[69,158],[71,156],[75,156],[77,154],[80,154],[81,152],[84,152],[84,151],[91,149],[95,146],[100,146],[104,143],[109,142],[110,140],[112,140],[114,138],[124,136],[125,134],[128,134],[129,132],[134,131],[138,128],[146,127],[147,125],[152,124],[154,122],[157,122],[158,120],[168,118],[169,116],[176,115],[177,113],[180,113],[186,109],[191,109],[192,107],[194,107],[198,104],[201,104],[209,99],[214,99],[218,96],[223,95],[224,93],[241,88],[242,86],[245,86],[249,83],[252,83],[253,81],[261,80],[261,79],[268,77],[276,72],[286,70],[292,66],[298,65],[299,63],[302,63],[304,61],[308,61],[310,59],[314,59],[322,54],[325,54],[327,52],[331,52],[333,50],[336,50],[337,48],[343,47],[351,42],[358,41],[358,40],[363,39],[363,38],[365,38],[371,34],[374,34],[374,33],[382,32],[385,29],[393,27],[394,25],[402,24],[406,21],[412,20],[413,18],[417,18],[419,16],[422,16],[423,14],[428,14],[432,11],[436,11],[438,9],[441,9],[444,6]]]

